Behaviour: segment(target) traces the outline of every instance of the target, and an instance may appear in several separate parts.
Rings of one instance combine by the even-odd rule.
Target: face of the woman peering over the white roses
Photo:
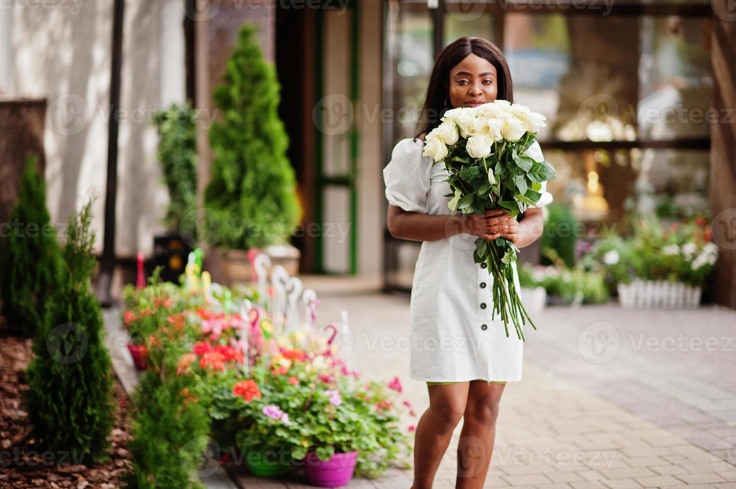
[[[495,101],[498,94],[496,68],[473,53],[450,70],[450,104],[475,107]]]

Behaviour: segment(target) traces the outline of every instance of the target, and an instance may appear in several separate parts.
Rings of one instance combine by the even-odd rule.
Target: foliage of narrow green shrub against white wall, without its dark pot
[[[166,226],[177,229],[185,215],[197,208],[196,112],[188,102],[171,104],[155,115],[158,161],[169,189]]]

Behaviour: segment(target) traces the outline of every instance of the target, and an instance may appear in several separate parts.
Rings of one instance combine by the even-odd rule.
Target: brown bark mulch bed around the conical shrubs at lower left
[[[0,318],[0,322],[2,318]],[[130,400],[115,379],[118,401],[116,424],[110,437],[110,460],[91,466],[73,460],[48,465],[46,449],[32,439],[21,404],[26,366],[32,357],[32,340],[10,335],[0,324],[0,489],[4,488],[117,488],[127,471]]]

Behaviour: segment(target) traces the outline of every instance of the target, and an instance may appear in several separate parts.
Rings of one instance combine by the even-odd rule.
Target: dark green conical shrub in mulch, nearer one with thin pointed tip
[[[66,277],[46,307],[28,367],[26,411],[47,450],[71,451],[84,463],[105,460],[113,424],[113,376],[103,343],[102,307],[91,290],[92,201],[69,218]]]

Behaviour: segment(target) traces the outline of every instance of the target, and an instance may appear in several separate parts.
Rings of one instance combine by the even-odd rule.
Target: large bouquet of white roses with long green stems
[[[503,209],[512,218],[535,205],[542,197],[542,182],[555,179],[552,165],[536,161],[525,152],[534,143],[545,116],[531,112],[521,104],[497,100],[475,107],[458,107],[445,112],[439,124],[425,138],[423,155],[434,163],[445,162],[453,197],[447,204],[454,215],[484,214]],[[475,240],[473,259],[485,262],[493,275],[493,313],[500,314],[509,336],[509,318],[520,340],[524,335],[519,324],[534,323],[524,309],[514,285],[512,262],[517,246],[506,238]]]

